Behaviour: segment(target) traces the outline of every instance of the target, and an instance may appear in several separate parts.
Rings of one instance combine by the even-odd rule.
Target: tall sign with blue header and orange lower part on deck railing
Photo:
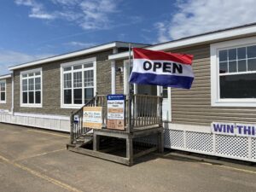
[[[125,130],[124,95],[108,95],[108,129]]]

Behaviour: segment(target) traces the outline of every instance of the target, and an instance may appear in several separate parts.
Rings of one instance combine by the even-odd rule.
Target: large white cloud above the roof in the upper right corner
[[[177,13],[158,27],[159,41],[256,21],[255,0],[177,0],[176,5]]]

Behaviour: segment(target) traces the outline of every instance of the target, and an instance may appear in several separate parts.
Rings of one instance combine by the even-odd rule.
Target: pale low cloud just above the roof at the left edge
[[[52,56],[50,54],[28,55],[13,50],[0,51],[0,74],[9,73],[8,67],[28,61],[34,61]]]

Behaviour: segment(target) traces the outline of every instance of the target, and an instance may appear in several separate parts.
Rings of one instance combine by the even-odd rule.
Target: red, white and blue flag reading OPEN
[[[133,49],[130,83],[190,89],[193,55]]]

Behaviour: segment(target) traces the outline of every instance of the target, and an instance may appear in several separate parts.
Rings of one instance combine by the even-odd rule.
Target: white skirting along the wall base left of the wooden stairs
[[[69,117],[57,116],[57,115],[40,115],[40,114],[9,114],[0,113],[0,122],[26,125],[37,128],[44,128],[55,131],[70,131]]]

